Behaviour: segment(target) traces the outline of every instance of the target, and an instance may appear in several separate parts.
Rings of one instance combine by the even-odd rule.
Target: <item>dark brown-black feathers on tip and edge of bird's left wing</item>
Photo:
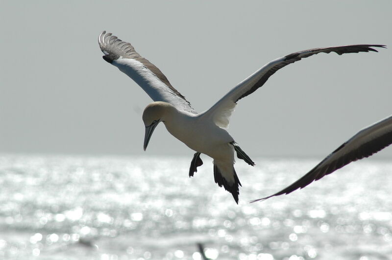
[[[112,33],[106,33],[106,31],[101,32],[98,37],[98,43],[101,51],[105,54],[103,59],[108,63],[112,63],[120,57],[134,59],[145,65],[152,73],[154,73],[163,83],[166,84],[172,91],[185,100],[189,107],[191,103],[185,99],[185,96],[181,95],[177,89],[175,89],[172,84],[170,84],[168,78],[163,74],[163,72],[155,65],[150,63],[146,58],[140,56],[139,53],[135,51],[135,48],[131,43],[124,42],[117,38],[117,36],[112,35]],[[192,107],[191,107],[192,108]],[[193,108],[192,108],[193,109]]]

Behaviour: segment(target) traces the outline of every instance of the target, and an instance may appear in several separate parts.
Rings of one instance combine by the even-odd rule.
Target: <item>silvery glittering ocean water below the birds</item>
[[[392,259],[392,162],[363,160],[264,202],[318,160],[235,165],[240,203],[186,157],[0,155],[0,259]]]

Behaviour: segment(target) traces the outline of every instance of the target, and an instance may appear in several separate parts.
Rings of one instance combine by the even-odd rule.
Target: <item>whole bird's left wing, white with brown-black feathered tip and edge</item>
[[[98,38],[102,58],[115,65],[154,101],[164,101],[180,110],[196,114],[191,104],[169,82],[155,65],[139,55],[130,43],[123,42],[111,33],[103,31]]]

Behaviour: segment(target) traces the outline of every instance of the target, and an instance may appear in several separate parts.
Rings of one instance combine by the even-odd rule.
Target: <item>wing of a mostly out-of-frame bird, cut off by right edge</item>
[[[392,116],[360,130],[292,185],[278,193],[255,199],[251,202],[265,200],[277,195],[289,194],[299,188],[302,189],[313,181],[335,172],[350,162],[369,157],[390,144],[392,144]]]

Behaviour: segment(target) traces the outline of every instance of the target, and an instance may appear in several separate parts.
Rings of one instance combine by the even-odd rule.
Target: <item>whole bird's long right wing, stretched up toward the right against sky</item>
[[[247,77],[244,81],[240,82],[236,87],[231,89],[226,95],[221,98],[221,100],[219,100],[214,106],[208,109],[204,114],[205,116],[211,117],[217,124],[217,126],[221,128],[228,128],[230,116],[234,111],[235,106],[237,105],[237,101],[253,93],[259,87],[263,86],[264,83],[266,83],[266,81],[270,78],[270,76],[272,76],[276,71],[283,68],[284,66],[300,61],[302,58],[307,58],[320,52],[336,52],[339,55],[342,55],[344,53],[358,53],[368,51],[377,52],[377,50],[373,47],[385,48],[385,45],[360,44],[327,48],[315,48],[294,52],[287,56],[278,58],[264,65],[262,68]]]

